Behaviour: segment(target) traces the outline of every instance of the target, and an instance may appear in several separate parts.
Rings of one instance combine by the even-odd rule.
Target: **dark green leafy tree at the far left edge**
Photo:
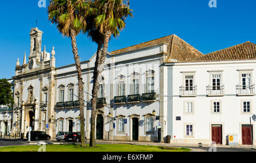
[[[0,105],[13,106],[12,85],[6,79],[0,79]]]

